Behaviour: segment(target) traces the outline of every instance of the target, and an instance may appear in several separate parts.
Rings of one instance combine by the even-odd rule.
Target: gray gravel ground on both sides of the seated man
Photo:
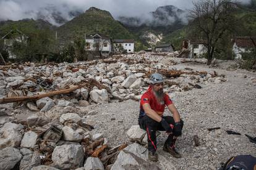
[[[256,78],[255,73],[237,70],[210,69],[205,65],[180,64],[174,68],[189,67],[227,76],[228,81],[206,84],[203,89],[170,94],[184,120],[182,137],[177,140],[181,159],[173,158],[161,150],[166,134],[158,137],[158,153],[162,169],[216,169],[229,157],[239,154],[256,156],[256,145],[249,142],[245,134],[256,136]],[[244,78],[247,75],[247,78]],[[139,102],[127,100],[121,103],[92,105],[96,115],[87,116],[95,132],[103,132],[111,145],[129,142],[126,131],[137,124]],[[165,112],[168,115],[168,111]],[[209,127],[221,127],[208,131]],[[241,136],[228,135],[226,130],[240,132]],[[195,147],[193,136],[197,134],[200,146]]]

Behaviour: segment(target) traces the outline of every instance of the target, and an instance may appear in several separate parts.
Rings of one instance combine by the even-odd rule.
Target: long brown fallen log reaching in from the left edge
[[[87,86],[87,84],[88,83],[84,83],[84,84],[80,84],[79,86],[70,87],[69,89],[62,89],[59,91],[51,91],[51,92],[46,92],[45,94],[38,94],[38,95],[34,95],[34,96],[4,97],[4,98],[0,99],[0,104],[22,102],[24,100],[39,100],[39,99],[42,99],[45,97],[51,97],[53,95],[68,94],[72,91],[82,88],[83,86]]]

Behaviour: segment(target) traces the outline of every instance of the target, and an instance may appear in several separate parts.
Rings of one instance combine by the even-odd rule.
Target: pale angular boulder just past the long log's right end
[[[108,103],[108,91],[106,89],[94,89],[90,91],[90,98],[96,103]]]

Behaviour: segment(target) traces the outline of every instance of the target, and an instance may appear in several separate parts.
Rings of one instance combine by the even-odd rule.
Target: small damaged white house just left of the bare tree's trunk
[[[207,53],[207,47],[203,41],[189,41],[189,58],[200,58]]]

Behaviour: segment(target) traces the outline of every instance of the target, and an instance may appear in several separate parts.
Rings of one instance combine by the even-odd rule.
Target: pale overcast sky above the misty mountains
[[[248,2],[250,0],[240,0]],[[62,17],[71,19],[70,10],[87,10],[95,6],[108,10],[113,17],[139,16],[156,10],[159,6],[173,5],[180,9],[190,9],[192,0],[0,0],[0,20],[20,20],[22,18],[35,18],[38,12],[48,15],[45,7],[56,7]]]

